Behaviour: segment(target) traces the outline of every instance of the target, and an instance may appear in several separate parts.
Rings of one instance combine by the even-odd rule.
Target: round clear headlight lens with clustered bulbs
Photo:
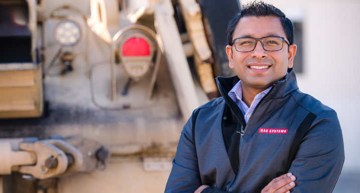
[[[75,46],[80,40],[81,31],[75,22],[62,21],[55,27],[54,36],[61,46]]]

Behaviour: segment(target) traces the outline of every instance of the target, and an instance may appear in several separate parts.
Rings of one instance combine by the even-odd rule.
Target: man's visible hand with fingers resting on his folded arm
[[[290,193],[290,189],[295,187],[296,177],[292,173],[286,173],[277,177],[261,190],[261,193]]]

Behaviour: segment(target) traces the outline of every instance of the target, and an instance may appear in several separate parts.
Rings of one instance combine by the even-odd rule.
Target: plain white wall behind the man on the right
[[[265,2],[290,19],[302,20],[304,72],[297,73],[299,88],[337,112],[345,145],[343,171],[360,172],[360,1]]]

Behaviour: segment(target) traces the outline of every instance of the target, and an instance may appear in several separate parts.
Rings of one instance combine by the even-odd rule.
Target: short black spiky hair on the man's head
[[[286,39],[289,41],[290,45],[294,44],[294,26],[292,22],[286,18],[285,14],[279,9],[275,8],[273,5],[264,3],[262,1],[254,1],[244,4],[242,9],[228,24],[228,41],[229,45],[233,45],[233,35],[236,26],[243,17],[255,16],[265,17],[265,16],[275,16],[280,19],[281,26],[285,32]]]

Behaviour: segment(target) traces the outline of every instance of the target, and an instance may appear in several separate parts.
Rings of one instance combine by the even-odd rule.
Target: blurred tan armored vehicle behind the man
[[[162,192],[237,0],[0,0],[0,192]]]

